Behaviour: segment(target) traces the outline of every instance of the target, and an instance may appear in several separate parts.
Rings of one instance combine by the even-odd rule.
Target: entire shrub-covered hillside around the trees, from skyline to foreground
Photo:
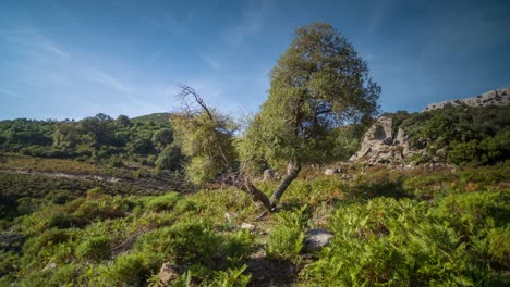
[[[508,286],[509,113],[385,114],[262,219],[246,192],[184,178],[168,114],[3,121],[0,286]]]

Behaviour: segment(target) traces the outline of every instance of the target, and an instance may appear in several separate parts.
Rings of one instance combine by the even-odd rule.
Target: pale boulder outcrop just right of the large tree
[[[402,128],[394,129],[390,117],[379,117],[365,133],[360,151],[349,161],[368,165],[404,165],[405,159],[418,151],[411,149]]]

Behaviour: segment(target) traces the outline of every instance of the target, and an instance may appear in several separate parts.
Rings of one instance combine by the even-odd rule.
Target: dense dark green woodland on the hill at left
[[[154,167],[161,151],[173,142],[168,116],[154,114],[131,121],[125,115],[113,120],[106,114],[97,114],[78,122],[1,121],[0,151],[105,163],[113,167],[124,164]],[[175,149],[177,146],[167,149],[162,157],[167,159],[160,161],[163,164],[158,164],[159,171],[181,170],[183,158]]]

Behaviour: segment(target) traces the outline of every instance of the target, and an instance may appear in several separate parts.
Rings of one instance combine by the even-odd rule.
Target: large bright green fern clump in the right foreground
[[[377,198],[339,209],[332,246],[305,267],[311,282],[336,286],[471,285],[489,274],[465,257],[456,230],[428,207]],[[488,284],[485,282],[485,284]]]

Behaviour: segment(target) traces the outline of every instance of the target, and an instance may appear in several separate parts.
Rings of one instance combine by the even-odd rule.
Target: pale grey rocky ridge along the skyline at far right
[[[459,99],[459,100],[448,100],[442,102],[430,103],[423,110],[424,112],[444,109],[445,107],[486,107],[486,105],[506,105],[510,103],[510,87],[487,91],[477,97]]]

